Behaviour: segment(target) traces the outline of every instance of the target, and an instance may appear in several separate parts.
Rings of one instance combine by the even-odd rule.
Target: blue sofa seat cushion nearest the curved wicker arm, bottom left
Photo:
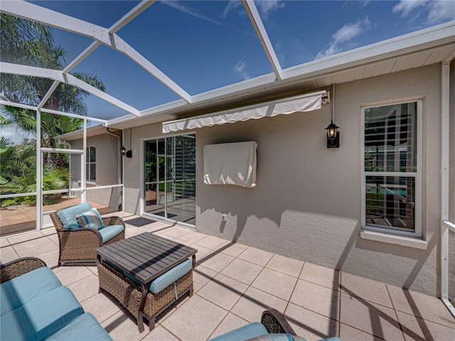
[[[60,281],[47,266],[1,283],[0,315],[9,313],[58,286],[61,286]]]

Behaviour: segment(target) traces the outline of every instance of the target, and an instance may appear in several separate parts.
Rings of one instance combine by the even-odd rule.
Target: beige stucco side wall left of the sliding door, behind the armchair
[[[82,149],[82,140],[71,143],[73,149]],[[87,188],[103,185],[117,185],[122,182],[119,170],[120,148],[117,137],[102,134],[87,137],[87,147],[96,148],[96,181],[87,182]],[[117,171],[119,170],[119,171]],[[80,187],[80,157],[75,155],[71,160],[72,185]],[[80,192],[75,193],[80,196]],[[87,190],[87,201],[98,202],[101,205],[117,210],[121,198],[119,188],[105,188],[100,190]]]

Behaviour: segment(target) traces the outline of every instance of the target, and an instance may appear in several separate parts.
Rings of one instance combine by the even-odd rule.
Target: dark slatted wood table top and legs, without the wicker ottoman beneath
[[[139,332],[144,331],[144,305],[149,283],[190,257],[194,268],[197,251],[151,232],[138,234],[96,249],[97,264],[107,260],[141,282],[142,298],[137,312]]]

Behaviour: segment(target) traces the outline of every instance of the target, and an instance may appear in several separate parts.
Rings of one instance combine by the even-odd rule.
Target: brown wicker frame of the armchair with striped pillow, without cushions
[[[68,208],[68,207],[67,207]],[[123,231],[105,244],[97,229],[80,228],[66,229],[58,217],[58,212],[50,213],[55,229],[57,230],[59,242],[58,264],[63,263],[90,263],[95,265],[97,254],[95,249],[103,245],[112,244],[125,238],[125,222],[120,217],[103,217],[102,222],[105,226],[123,225]]]

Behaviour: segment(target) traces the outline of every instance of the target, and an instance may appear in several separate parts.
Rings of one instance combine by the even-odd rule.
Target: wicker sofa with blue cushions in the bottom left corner
[[[37,258],[1,265],[0,340],[112,340]]]

